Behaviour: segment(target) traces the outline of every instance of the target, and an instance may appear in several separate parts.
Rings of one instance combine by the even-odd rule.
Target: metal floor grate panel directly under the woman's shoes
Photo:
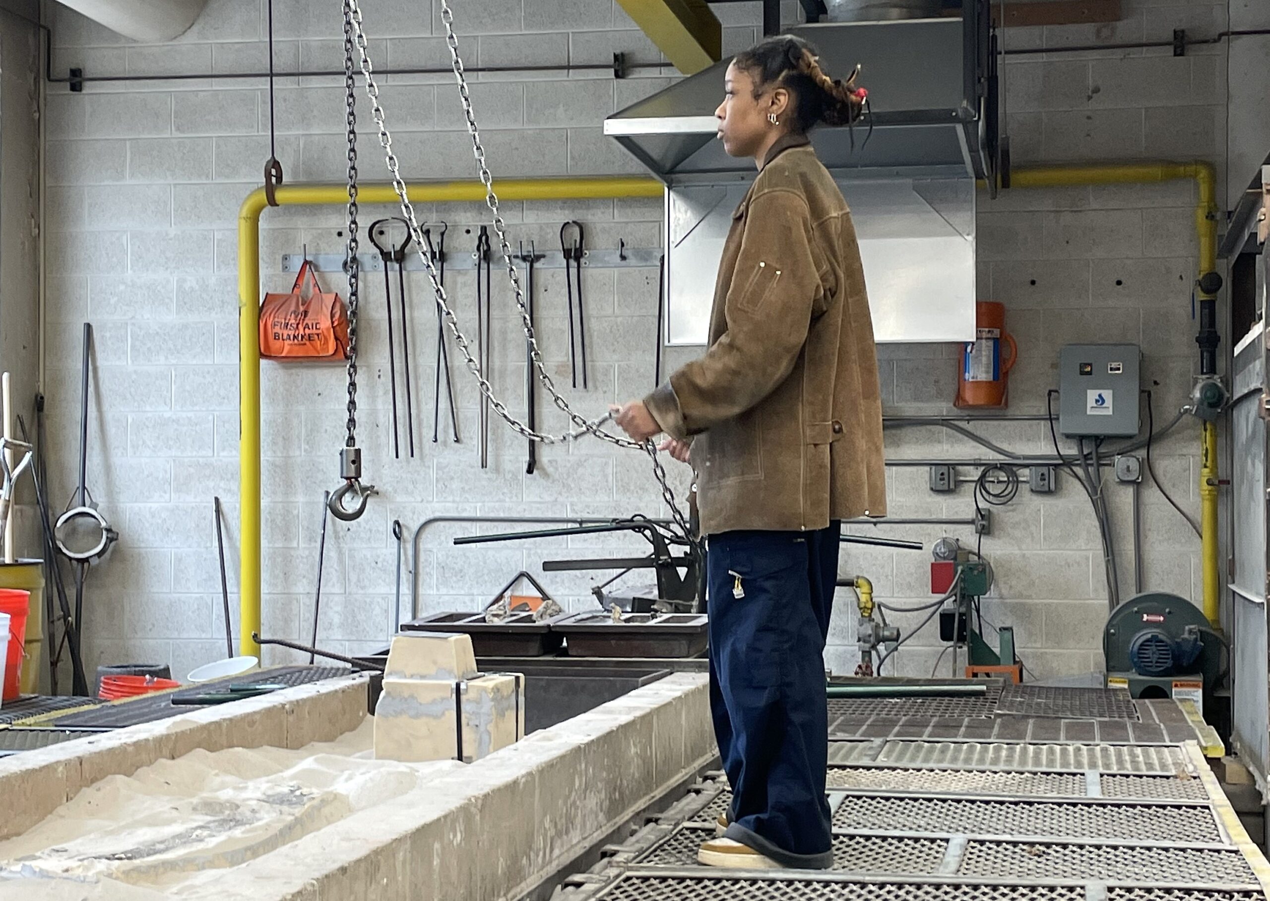
[[[681,829],[639,859],[658,867],[693,867],[702,841],[714,830]],[[833,869],[852,873],[933,876],[944,860],[942,839],[833,836]]]

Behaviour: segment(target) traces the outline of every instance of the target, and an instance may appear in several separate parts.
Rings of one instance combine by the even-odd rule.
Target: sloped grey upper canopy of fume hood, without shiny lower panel
[[[965,4],[965,19],[909,19],[808,24],[791,29],[820,51],[826,70],[845,76],[861,66],[867,122],[855,130],[815,128],[826,168],[839,177],[886,170],[986,178],[996,172],[996,72],[988,8]],[[605,121],[616,139],[667,184],[692,177],[753,173],[715,140],[714,111],[730,60],[697,72]],[[881,172],[879,172],[881,170]]]

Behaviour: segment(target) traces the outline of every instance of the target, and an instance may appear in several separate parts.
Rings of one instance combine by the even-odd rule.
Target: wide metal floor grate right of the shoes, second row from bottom
[[[1097,879],[1100,882],[1180,882],[1256,884],[1243,855],[1234,850],[1149,848],[1147,845],[1060,845],[972,841],[958,876],[992,878]]]

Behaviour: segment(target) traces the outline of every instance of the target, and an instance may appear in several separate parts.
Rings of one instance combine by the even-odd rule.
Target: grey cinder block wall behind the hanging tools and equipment
[[[418,3],[364,0],[366,29],[377,65],[444,65],[436,9]],[[786,4],[792,19],[796,4]],[[340,22],[329,4],[274,4],[281,71],[339,70]],[[608,0],[464,0],[456,27],[469,65],[607,64],[613,51],[657,62],[657,50]],[[1185,27],[1210,34],[1226,24],[1226,4],[1126,0],[1116,25],[1021,29],[1011,48],[1113,43],[1171,36]],[[48,4],[53,72],[88,75],[257,72],[265,66],[262,0],[211,0],[194,28],[168,46],[132,44],[57,4]],[[427,5],[424,5],[427,9]],[[715,6],[725,22],[725,50],[753,42],[757,4]],[[668,84],[673,69],[641,70],[615,81],[607,72],[474,75],[472,100],[495,177],[639,172],[603,137],[605,114]],[[1093,51],[1012,56],[1006,69],[1008,126],[1016,164],[1066,160],[1209,159],[1224,156],[1226,50]],[[867,84],[867,74],[865,74]],[[470,145],[452,79],[387,76],[384,107],[395,149],[410,178],[464,178],[472,172]],[[359,103],[363,128],[370,117]],[[292,182],[344,178],[340,78],[281,78],[277,83],[278,158]],[[75,477],[77,360],[85,318],[97,328],[89,485],[121,531],[119,545],[89,577],[85,643],[91,663],[170,660],[175,675],[224,653],[212,496],[226,502],[232,604],[237,605],[237,301],[236,211],[259,184],[269,152],[269,95],[260,79],[166,80],[91,84],[84,93],[51,85],[47,104],[50,230],[48,357],[50,436],[56,441],[53,502],[70,496]],[[382,179],[377,141],[362,131],[361,173]],[[1243,175],[1241,174],[1242,179]],[[980,197],[979,291],[1008,305],[1019,341],[1011,412],[1043,413],[1055,385],[1057,347],[1076,341],[1140,342],[1146,372],[1158,381],[1157,424],[1182,403],[1194,365],[1190,283],[1195,271],[1194,188],[1186,183],[1012,192]],[[469,250],[478,205],[420,208],[429,222],[450,225],[447,248]],[[650,248],[660,243],[659,201],[504,203],[516,247],[558,248],[564,219],[582,220],[592,248]],[[1057,213],[1057,215],[1055,215]],[[389,208],[363,207],[363,227]],[[340,208],[283,208],[263,216],[264,287],[284,288],[284,253],[337,253],[343,247]],[[337,287],[335,273],[324,273]],[[592,390],[578,405],[598,413],[611,400],[653,386],[657,271],[585,273]],[[513,409],[525,404],[523,342],[495,271],[494,384]],[[558,383],[568,383],[568,330],[563,273],[537,280],[542,344]],[[466,328],[474,328],[470,273],[448,273],[447,286]],[[368,480],[381,487],[366,516],[328,525],[319,640],[337,651],[378,647],[395,606],[396,543],[391,524],[411,534],[427,517],[447,513],[629,515],[662,513],[659,492],[639,455],[610,452],[597,442],[544,447],[538,470],[525,475],[523,440],[497,421],[490,468],[476,449],[478,394],[453,356],[458,407],[455,444],[444,424],[433,444],[436,323],[425,285],[411,277],[411,375],[415,459],[392,459],[384,288],[367,273],[362,311],[358,438]],[[1226,337],[1228,339],[1228,337]],[[881,348],[888,413],[951,412],[958,347]],[[667,366],[692,356],[672,348]],[[400,367],[400,360],[398,361]],[[307,638],[318,571],[324,489],[337,485],[343,441],[344,374],[339,366],[264,363],[264,632]],[[399,402],[401,399],[399,398]],[[540,423],[564,419],[538,394]],[[404,410],[401,413],[404,427]],[[978,427],[1019,451],[1046,452],[1043,422]],[[1184,423],[1153,449],[1167,488],[1190,512],[1198,461],[1196,431]],[[892,457],[978,457],[986,452],[936,428],[888,432]],[[681,494],[683,468],[672,466]],[[963,475],[973,475],[965,468]],[[894,468],[897,516],[966,518],[969,487],[933,496],[921,468]],[[1121,583],[1132,587],[1129,493],[1109,488],[1123,552]],[[1147,587],[1198,599],[1198,539],[1151,487],[1143,488]],[[494,531],[495,529],[486,529]],[[420,539],[415,562],[420,611],[484,604],[512,574],[540,572],[544,557],[587,555],[639,544],[593,538],[573,541],[453,548],[474,531],[438,524]],[[869,530],[870,534],[874,530]],[[949,534],[973,541],[964,526],[883,526],[878,534],[930,541]],[[996,624],[1012,623],[1022,656],[1038,676],[1100,665],[1106,601],[1101,552],[1088,503],[1068,479],[1054,496],[1026,488],[993,510],[983,553],[997,571],[984,605]],[[850,548],[842,572],[861,572],[883,599],[928,597],[928,555]],[[406,568],[410,566],[409,543]],[[610,573],[551,573],[549,590],[574,609],[593,604],[588,588]],[[409,572],[403,605],[409,609]],[[1128,591],[1128,588],[1126,588]],[[852,615],[841,599],[831,665],[856,662]],[[235,614],[236,615],[236,614]],[[904,616],[893,618],[911,624]],[[898,660],[928,674],[939,654],[933,630],[919,634]],[[271,654],[271,657],[273,657]],[[945,667],[947,660],[945,660]]]

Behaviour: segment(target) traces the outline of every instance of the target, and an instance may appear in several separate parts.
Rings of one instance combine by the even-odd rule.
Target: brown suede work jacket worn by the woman
[[[706,535],[885,515],[860,248],[805,136],[772,146],[733,213],[705,356],[644,403],[667,435],[692,438]]]

